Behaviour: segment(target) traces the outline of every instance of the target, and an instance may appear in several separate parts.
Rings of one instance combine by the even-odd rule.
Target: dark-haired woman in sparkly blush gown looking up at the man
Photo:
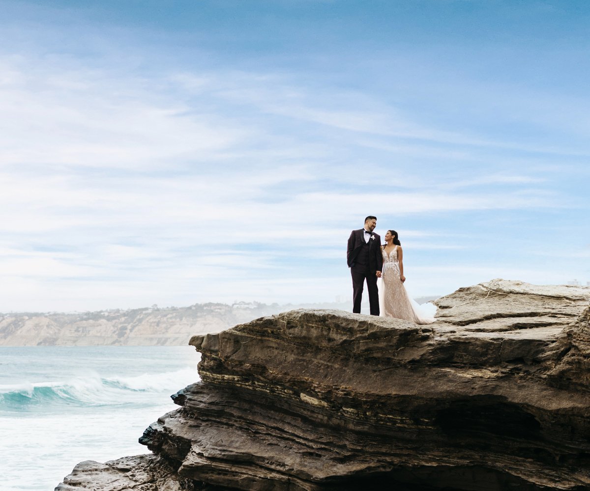
[[[430,324],[434,322],[433,317],[419,314],[417,308],[412,304],[408,292],[404,287],[404,251],[395,230],[388,230],[385,234],[386,244],[382,246],[383,255],[382,281],[379,282],[379,308],[381,315],[385,317],[396,317],[416,324]],[[415,302],[414,302],[415,303]]]

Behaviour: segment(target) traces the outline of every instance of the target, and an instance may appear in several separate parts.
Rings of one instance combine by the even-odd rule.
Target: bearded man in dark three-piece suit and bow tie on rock
[[[376,225],[377,218],[368,216],[365,218],[364,228],[353,230],[348,239],[346,259],[352,275],[352,311],[355,314],[360,314],[360,301],[366,279],[371,315],[379,315],[377,278],[381,278],[383,256],[381,255],[381,238],[373,233]]]

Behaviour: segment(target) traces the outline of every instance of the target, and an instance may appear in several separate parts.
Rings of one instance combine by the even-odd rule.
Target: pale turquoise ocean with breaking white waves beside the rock
[[[53,490],[83,460],[137,443],[199,380],[193,347],[0,347],[0,488]]]

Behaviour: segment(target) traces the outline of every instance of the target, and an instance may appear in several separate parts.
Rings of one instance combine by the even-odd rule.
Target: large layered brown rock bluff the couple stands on
[[[590,489],[590,288],[435,304],[430,325],[297,309],[195,335],[202,380],[140,437],[152,454],[55,489]]]

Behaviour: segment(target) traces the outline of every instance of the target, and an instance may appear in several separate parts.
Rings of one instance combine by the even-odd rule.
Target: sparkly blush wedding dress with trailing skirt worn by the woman
[[[388,254],[383,249],[382,281],[379,285],[379,309],[383,317],[396,317],[416,324],[431,324],[436,319],[419,312],[420,305],[409,298],[399,278],[398,246]],[[412,303],[413,302],[413,303]],[[415,304],[415,305],[414,305]]]

